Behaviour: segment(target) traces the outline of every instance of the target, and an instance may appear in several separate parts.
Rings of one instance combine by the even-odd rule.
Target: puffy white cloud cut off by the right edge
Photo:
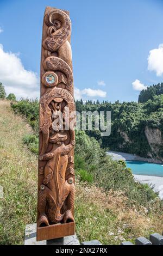
[[[157,76],[163,74],[163,44],[149,51],[148,70],[155,71]]]

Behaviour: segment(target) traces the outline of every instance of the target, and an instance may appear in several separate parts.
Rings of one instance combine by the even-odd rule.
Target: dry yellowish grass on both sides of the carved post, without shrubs
[[[37,159],[22,144],[32,132],[21,117],[14,115],[9,102],[0,101],[0,243],[23,244],[24,228],[36,221]],[[104,190],[94,185],[76,184],[76,232],[80,241],[98,239],[118,245],[136,236],[162,233],[160,200],[146,208],[129,208],[122,191]],[[150,209],[148,205],[148,209]]]

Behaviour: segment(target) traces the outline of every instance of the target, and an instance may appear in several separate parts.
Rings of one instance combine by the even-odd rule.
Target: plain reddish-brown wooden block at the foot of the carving
[[[54,224],[47,227],[37,227],[37,241],[60,238],[68,235],[74,235],[75,223]]]

